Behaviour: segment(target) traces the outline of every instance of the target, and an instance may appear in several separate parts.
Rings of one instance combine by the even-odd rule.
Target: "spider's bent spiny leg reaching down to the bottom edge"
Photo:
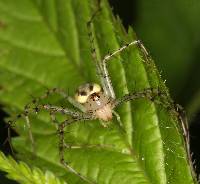
[[[64,149],[68,148],[66,146],[64,141],[64,128],[72,123],[75,123],[76,121],[84,121],[84,120],[92,120],[94,119],[92,116],[83,115],[81,117],[77,117],[75,119],[69,119],[65,120],[61,124],[59,124],[58,132],[59,132],[59,155],[60,155],[60,162],[61,164],[70,172],[74,173],[75,175],[78,175],[81,179],[86,181],[87,183],[94,184],[95,182],[92,182],[88,180],[85,176],[81,175],[79,172],[77,172],[75,169],[73,169],[69,163],[67,163],[64,159]]]

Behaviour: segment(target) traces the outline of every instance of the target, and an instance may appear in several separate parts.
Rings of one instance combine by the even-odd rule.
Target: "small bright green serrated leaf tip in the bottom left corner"
[[[46,171],[43,173],[36,167],[30,169],[24,162],[17,163],[11,157],[6,157],[2,152],[0,152],[0,169],[8,173],[8,178],[22,184],[66,184],[66,182],[56,178],[52,172]]]

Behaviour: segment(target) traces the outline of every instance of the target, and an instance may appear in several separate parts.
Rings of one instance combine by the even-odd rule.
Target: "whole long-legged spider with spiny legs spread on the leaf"
[[[113,51],[112,53],[106,55],[101,61],[98,60],[95,44],[94,44],[94,35],[92,31],[92,21],[99,10],[97,10],[91,17],[91,19],[87,23],[88,28],[88,36],[91,44],[91,52],[92,58],[95,62],[97,74],[100,77],[101,86],[95,83],[86,83],[81,86],[76,91],[75,97],[69,97],[63,90],[58,88],[50,89],[43,96],[36,98],[32,101],[32,103],[25,106],[23,113],[17,116],[15,121],[9,121],[9,127],[13,125],[17,121],[18,118],[23,117],[26,121],[29,138],[34,149],[34,138],[31,132],[31,123],[29,120],[29,114],[34,111],[38,113],[41,110],[46,110],[50,113],[50,117],[53,122],[56,122],[55,114],[65,114],[71,116],[70,119],[59,123],[58,125],[58,133],[59,133],[59,154],[60,154],[60,162],[61,164],[70,172],[78,175],[80,178],[85,180],[88,183],[94,183],[85,178],[83,175],[74,170],[65,160],[64,160],[64,149],[69,148],[70,146],[66,145],[64,141],[64,128],[72,123],[77,121],[87,121],[87,120],[95,120],[99,119],[102,122],[104,127],[107,126],[106,122],[109,122],[113,119],[113,115],[116,116],[117,121],[120,126],[122,126],[120,122],[120,116],[115,112],[119,105],[124,102],[128,102],[131,100],[136,100],[140,98],[146,98],[149,100],[153,100],[156,96],[162,96],[162,93],[158,89],[146,88],[142,91],[129,93],[124,95],[123,97],[116,98],[115,92],[112,86],[112,81],[110,80],[109,73],[107,70],[107,63],[117,54],[120,54],[122,51],[126,50],[130,46],[137,46],[142,51],[145,59],[148,59],[148,52],[141,43],[140,40],[132,41],[121,48]],[[39,104],[39,100],[47,98],[49,95],[58,94],[63,99],[67,100],[78,110],[72,110],[70,108],[59,107],[50,104]],[[164,94],[165,95],[165,94]],[[30,108],[30,105],[35,105],[34,108]],[[10,130],[10,129],[9,129]],[[9,132],[10,136],[10,132]],[[9,141],[10,142],[10,141]]]

